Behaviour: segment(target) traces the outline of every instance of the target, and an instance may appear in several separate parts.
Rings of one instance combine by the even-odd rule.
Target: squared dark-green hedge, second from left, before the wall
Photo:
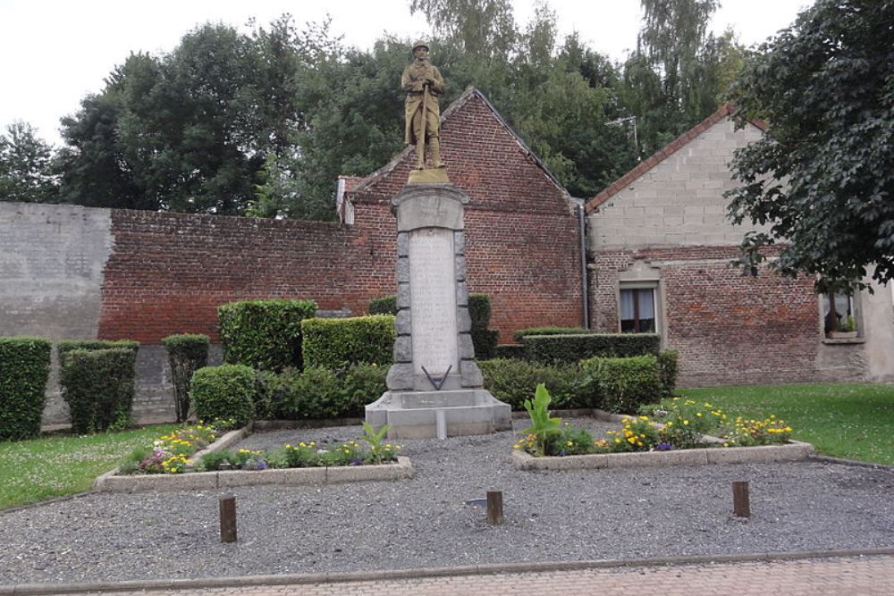
[[[59,348],[59,382],[72,415],[72,432],[120,430],[131,424],[137,350]]]

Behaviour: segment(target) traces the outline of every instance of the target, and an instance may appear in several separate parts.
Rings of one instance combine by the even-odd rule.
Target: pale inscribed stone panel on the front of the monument
[[[409,233],[409,292],[413,325],[413,370],[438,375],[459,372],[453,232],[423,228]]]

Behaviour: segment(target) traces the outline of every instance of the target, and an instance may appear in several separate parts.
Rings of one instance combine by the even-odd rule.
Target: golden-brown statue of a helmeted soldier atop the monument
[[[438,97],[443,93],[441,72],[428,62],[428,44],[418,41],[413,46],[413,62],[401,76],[401,87],[407,92],[404,103],[406,125],[404,142],[416,145],[416,169],[426,168],[426,145],[435,168],[443,168],[441,161],[441,107]]]

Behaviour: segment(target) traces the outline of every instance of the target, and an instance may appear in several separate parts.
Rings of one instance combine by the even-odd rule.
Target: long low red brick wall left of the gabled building
[[[345,253],[337,224],[217,215],[112,212],[99,337],[157,343],[171,333],[216,338],[216,307],[241,298],[312,298],[341,308]]]

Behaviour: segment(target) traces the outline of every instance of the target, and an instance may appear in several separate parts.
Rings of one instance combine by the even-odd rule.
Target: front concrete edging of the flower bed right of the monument
[[[814,451],[810,443],[789,441],[785,445],[637,451],[593,455],[534,457],[516,449],[512,465],[519,470],[589,470],[643,466],[697,466],[702,464],[755,464],[805,459]]]

